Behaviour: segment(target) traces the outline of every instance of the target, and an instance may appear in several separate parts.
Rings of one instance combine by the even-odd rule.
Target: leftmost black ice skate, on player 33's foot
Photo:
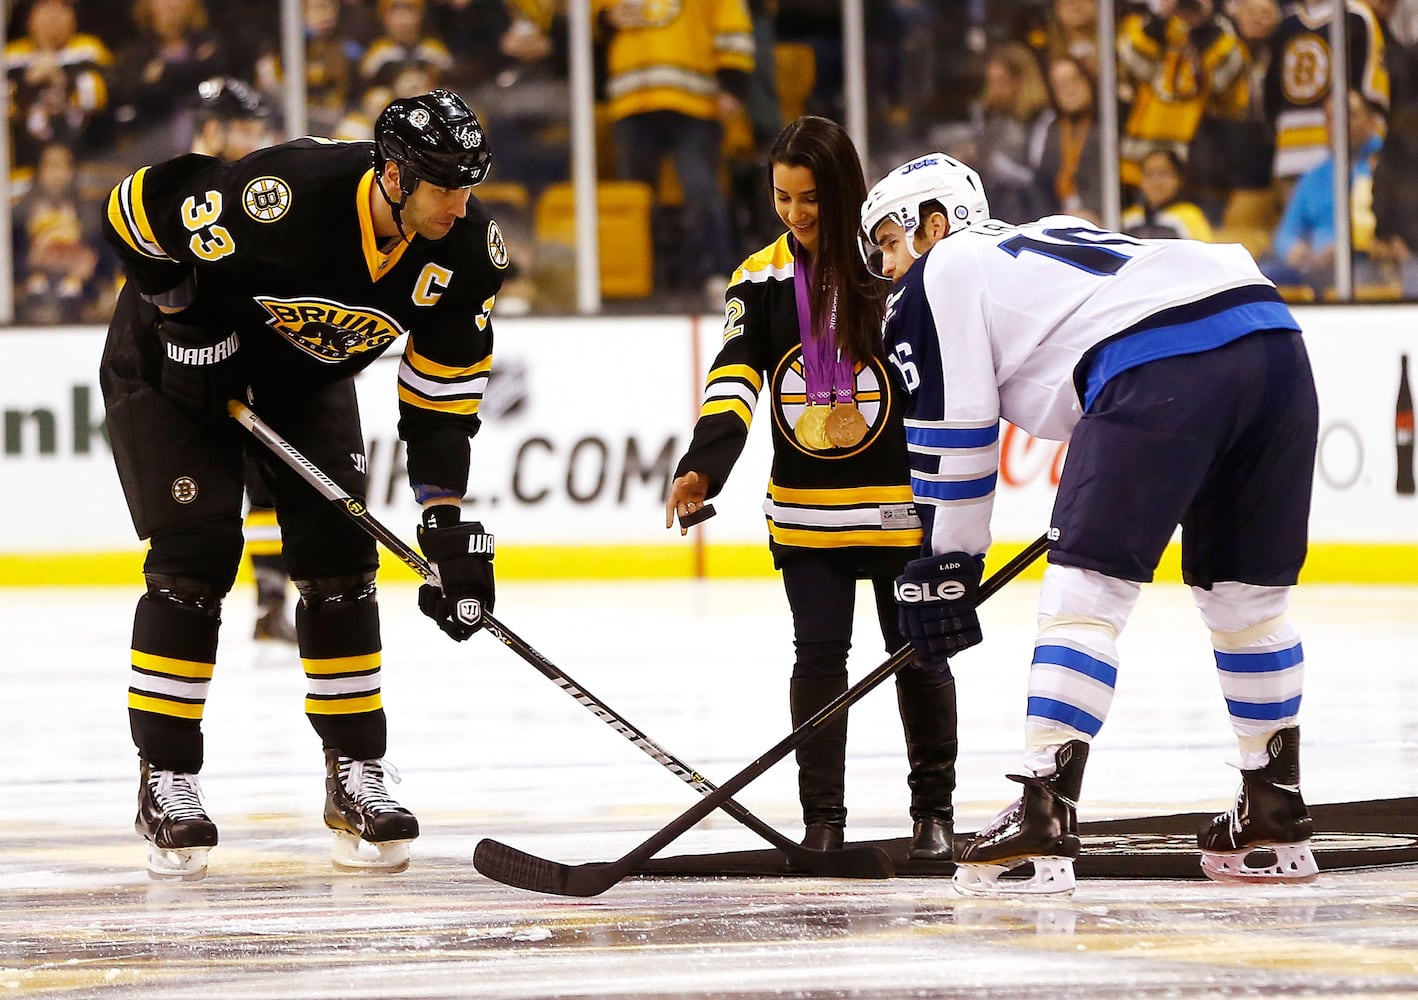
[[[196,774],[156,770],[140,760],[138,818],[147,841],[147,874],[193,881],[207,874],[207,851],[217,845],[217,824],[201,807]]]

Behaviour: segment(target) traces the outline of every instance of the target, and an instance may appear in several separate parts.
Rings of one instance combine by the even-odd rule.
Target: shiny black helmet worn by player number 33
[[[398,165],[407,199],[420,180],[438,187],[472,187],[488,176],[492,146],[478,116],[451,91],[400,98],[374,122],[376,169]]]

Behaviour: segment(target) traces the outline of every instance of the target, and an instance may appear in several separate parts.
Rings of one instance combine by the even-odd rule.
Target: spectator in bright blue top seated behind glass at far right
[[[1326,115],[1326,125],[1333,115]],[[1383,111],[1358,91],[1349,92],[1350,238],[1354,284],[1377,278],[1368,251],[1374,238],[1374,162],[1383,146]],[[1310,167],[1290,194],[1261,270],[1276,285],[1309,287],[1317,295],[1334,277],[1334,160]]]

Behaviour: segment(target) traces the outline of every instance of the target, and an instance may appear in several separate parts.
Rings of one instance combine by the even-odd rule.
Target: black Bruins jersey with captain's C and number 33
[[[408,335],[398,433],[410,478],[462,491],[467,448],[448,445],[478,430],[506,245],[474,197],[444,238],[381,252],[373,165],[372,142],[325,139],[235,163],[179,156],[112,190],[105,234],[145,295],[194,274],[196,315],[235,330],[254,384],[345,379]]]

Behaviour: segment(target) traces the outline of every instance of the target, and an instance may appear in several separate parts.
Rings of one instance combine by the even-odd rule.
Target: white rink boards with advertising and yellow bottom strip
[[[1418,495],[1398,487],[1402,357],[1418,356],[1418,306],[1297,311],[1320,433],[1306,583],[1414,583]],[[1361,330],[1363,336],[1356,336]],[[464,508],[498,535],[498,576],[543,579],[750,577],[774,573],[764,484],[771,445],[759,406],[718,516],[688,538],[665,529],[675,461],[689,443],[705,370],[722,342],[710,316],[498,321],[496,367],[479,409]],[[140,580],[135,538],[109,454],[94,328],[0,338],[0,586]],[[34,365],[35,357],[44,365]],[[607,357],[635,386],[588,404]],[[398,440],[398,352],[356,379],[369,509],[411,536],[418,505]],[[281,427],[277,427],[281,431]],[[991,530],[1001,549],[1048,526],[1065,447],[1001,427]],[[77,512],[82,508],[82,516]],[[1008,552],[991,552],[1007,557]],[[390,579],[413,580],[396,559]],[[1176,546],[1161,567],[1177,579]]]

